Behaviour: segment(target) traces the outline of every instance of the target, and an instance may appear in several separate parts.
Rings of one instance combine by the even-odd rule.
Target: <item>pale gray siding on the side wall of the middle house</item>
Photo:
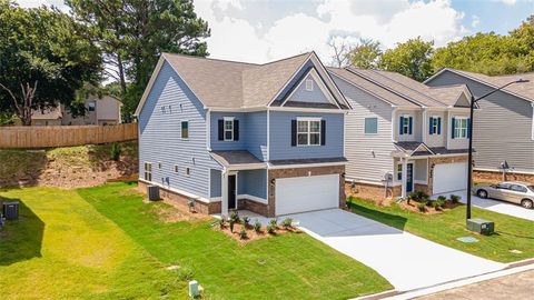
[[[333,74],[333,79],[353,110],[345,117],[345,167],[347,180],[382,183],[386,172],[393,172],[392,112],[389,103],[369,94]],[[365,134],[365,118],[378,119],[378,133]]]

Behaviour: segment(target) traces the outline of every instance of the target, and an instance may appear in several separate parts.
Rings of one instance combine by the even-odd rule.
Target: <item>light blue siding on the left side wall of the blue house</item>
[[[165,107],[165,112],[161,107]],[[139,177],[152,163],[152,182],[209,198],[210,169],[220,166],[206,147],[206,112],[196,96],[165,62],[139,117]],[[181,121],[189,138],[181,139]],[[161,168],[158,168],[158,163]],[[178,172],[175,172],[175,164]],[[190,168],[190,176],[186,174]]]

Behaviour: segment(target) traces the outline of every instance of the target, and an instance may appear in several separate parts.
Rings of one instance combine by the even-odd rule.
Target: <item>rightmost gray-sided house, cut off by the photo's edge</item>
[[[490,77],[443,69],[425,81],[429,87],[467,84],[481,97],[520,78],[530,82],[508,86],[477,102],[473,143],[475,170],[482,177],[501,180],[506,161],[513,173],[508,179],[534,181],[534,73]]]

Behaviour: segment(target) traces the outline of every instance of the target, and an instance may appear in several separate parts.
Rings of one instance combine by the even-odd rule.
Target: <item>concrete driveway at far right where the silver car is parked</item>
[[[467,201],[467,190],[448,192],[448,193],[444,193],[443,196],[448,198],[448,196],[452,193],[462,197],[462,200],[459,200],[461,202],[465,203],[465,201]],[[435,194],[432,197],[432,199],[436,199],[438,196],[439,194]],[[477,208],[483,208],[483,209],[487,209],[498,213],[504,213],[504,214],[534,221],[534,209],[524,209],[518,204],[500,201],[500,200],[482,199],[474,194],[472,196],[471,201],[473,206]]]

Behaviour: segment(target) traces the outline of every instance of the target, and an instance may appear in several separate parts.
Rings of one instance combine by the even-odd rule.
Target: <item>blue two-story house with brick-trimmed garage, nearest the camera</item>
[[[348,108],[314,52],[266,64],[164,53],[136,111],[140,188],[204,213],[344,206]]]

